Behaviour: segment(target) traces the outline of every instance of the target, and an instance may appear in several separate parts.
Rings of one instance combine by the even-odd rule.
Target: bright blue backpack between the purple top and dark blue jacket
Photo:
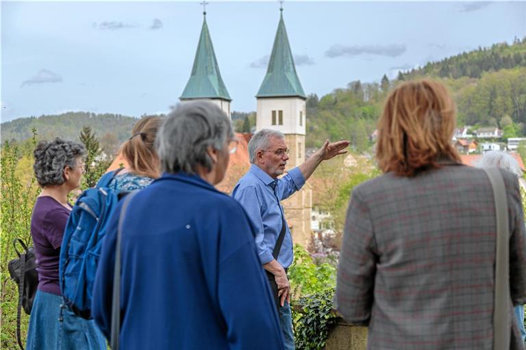
[[[123,194],[108,188],[120,170],[104,174],[96,187],[82,192],[64,229],[58,269],[62,307],[84,319],[91,319],[93,282],[108,219]]]

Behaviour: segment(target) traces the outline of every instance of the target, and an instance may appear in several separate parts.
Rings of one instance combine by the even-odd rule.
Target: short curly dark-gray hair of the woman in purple
[[[56,138],[51,142],[40,141],[33,151],[33,170],[41,187],[60,186],[66,180],[64,168],[77,166],[76,160],[84,157],[86,148],[78,142]]]

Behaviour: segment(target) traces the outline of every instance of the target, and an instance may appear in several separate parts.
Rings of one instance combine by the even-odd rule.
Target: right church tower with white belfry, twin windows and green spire
[[[258,94],[256,131],[273,129],[285,135],[290,150],[288,169],[297,167],[305,160],[305,92],[299,81],[292,51],[283,21],[283,8],[279,11],[279,23],[268,62],[266,75]],[[295,243],[306,246],[310,240],[310,215],[312,190],[308,184],[294,196],[283,202],[287,222]]]

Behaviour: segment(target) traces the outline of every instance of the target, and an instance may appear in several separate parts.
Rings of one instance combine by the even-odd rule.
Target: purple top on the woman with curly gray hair
[[[36,255],[38,290],[60,295],[58,258],[70,211],[54,198],[36,198],[31,217],[31,236]]]

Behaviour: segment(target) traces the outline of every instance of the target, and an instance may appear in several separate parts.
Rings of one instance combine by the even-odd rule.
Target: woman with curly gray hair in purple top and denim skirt
[[[93,321],[60,308],[58,260],[62,235],[71,212],[68,193],[80,185],[86,149],[63,139],[40,142],[34,150],[33,169],[42,188],[31,218],[31,236],[37,258],[38,288],[34,300],[27,349],[105,349],[105,340]]]

